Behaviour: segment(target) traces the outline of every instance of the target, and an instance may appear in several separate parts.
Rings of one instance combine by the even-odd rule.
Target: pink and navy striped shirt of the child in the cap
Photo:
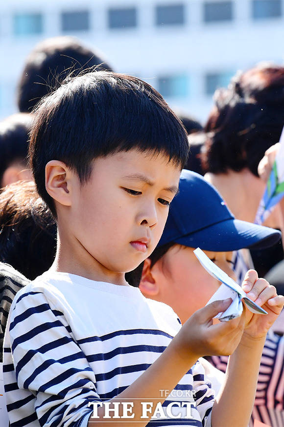
[[[228,356],[207,358],[225,372]],[[284,426],[284,336],[269,331],[263,348],[256,399],[250,426],[258,420],[268,426]]]

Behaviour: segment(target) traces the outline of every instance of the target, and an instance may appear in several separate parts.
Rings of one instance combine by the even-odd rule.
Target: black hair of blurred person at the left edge
[[[11,164],[26,165],[31,121],[32,116],[27,113],[13,114],[0,121],[0,187],[3,174]]]

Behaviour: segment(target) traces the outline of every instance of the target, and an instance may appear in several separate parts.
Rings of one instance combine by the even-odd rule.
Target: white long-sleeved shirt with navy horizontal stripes
[[[88,403],[125,390],[180,327],[169,306],[139,288],[47,271],[18,292],[9,313],[3,376],[11,427],[86,427]],[[174,391],[183,401],[193,393],[193,418],[184,412],[149,426],[211,425],[214,394],[201,363]]]

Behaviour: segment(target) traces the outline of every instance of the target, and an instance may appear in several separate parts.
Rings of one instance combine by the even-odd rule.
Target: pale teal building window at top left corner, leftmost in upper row
[[[43,32],[43,16],[41,13],[16,13],[13,17],[14,34],[28,35]]]

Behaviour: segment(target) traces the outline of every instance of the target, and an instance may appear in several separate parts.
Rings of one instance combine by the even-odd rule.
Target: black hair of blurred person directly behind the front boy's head
[[[84,46],[75,37],[61,36],[43,40],[26,59],[17,91],[19,110],[30,112],[71,72],[76,76],[91,67],[112,71],[101,53]]]

